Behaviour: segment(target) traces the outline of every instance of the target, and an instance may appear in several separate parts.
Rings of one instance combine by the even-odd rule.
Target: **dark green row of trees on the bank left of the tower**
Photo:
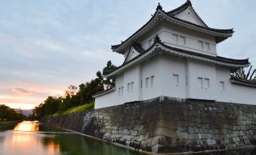
[[[106,63],[106,67],[103,68],[103,74],[108,73],[116,69],[116,65],[113,65],[111,61]],[[69,108],[84,105],[93,101],[92,95],[99,93],[105,89],[115,87],[115,81],[112,78],[103,78],[100,71],[96,73],[97,78],[92,79],[90,82],[80,84],[79,88],[74,85],[69,85],[63,97],[48,96],[48,98],[36,106],[33,109],[33,114],[29,116],[29,119],[42,119],[45,115],[54,114],[57,111],[66,111]]]

